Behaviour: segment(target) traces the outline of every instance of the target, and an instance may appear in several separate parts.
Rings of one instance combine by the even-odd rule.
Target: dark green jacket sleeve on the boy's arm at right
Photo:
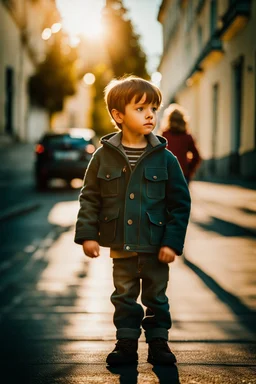
[[[168,246],[174,249],[177,255],[181,255],[189,221],[191,199],[177,158],[168,157],[168,163],[166,187],[168,221],[161,246]]]

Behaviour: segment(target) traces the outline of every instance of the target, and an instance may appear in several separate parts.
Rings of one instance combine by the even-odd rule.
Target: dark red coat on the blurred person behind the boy
[[[201,163],[201,156],[193,137],[189,133],[163,132],[167,148],[177,157],[186,179],[190,179]],[[191,153],[192,156],[188,153]],[[192,158],[190,158],[192,157]]]

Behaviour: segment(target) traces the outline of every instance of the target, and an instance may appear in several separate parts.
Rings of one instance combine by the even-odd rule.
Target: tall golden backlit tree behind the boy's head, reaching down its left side
[[[93,126],[98,135],[113,131],[110,122],[103,91],[113,77],[134,74],[148,78],[146,70],[146,55],[143,52],[139,35],[133,30],[133,25],[127,17],[127,10],[122,0],[107,0],[103,10],[104,51],[107,53],[105,66],[96,65],[92,71],[96,75]]]

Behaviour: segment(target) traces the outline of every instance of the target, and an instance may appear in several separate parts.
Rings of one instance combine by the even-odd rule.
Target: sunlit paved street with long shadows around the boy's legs
[[[73,243],[77,193],[57,191],[33,192],[40,208],[1,223],[12,234],[1,249],[8,260],[0,259],[4,383],[256,383],[255,191],[192,183],[185,256],[171,266],[168,288],[177,367],[148,364],[142,335],[138,366],[116,369],[105,365],[115,341],[108,249],[83,256]],[[20,250],[15,231],[24,234]]]

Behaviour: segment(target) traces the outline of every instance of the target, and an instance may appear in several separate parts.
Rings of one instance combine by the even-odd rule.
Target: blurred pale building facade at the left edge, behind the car
[[[28,81],[44,60],[41,34],[58,17],[54,0],[0,0],[0,140],[35,141],[45,110],[31,108]],[[48,25],[49,24],[49,25]]]

